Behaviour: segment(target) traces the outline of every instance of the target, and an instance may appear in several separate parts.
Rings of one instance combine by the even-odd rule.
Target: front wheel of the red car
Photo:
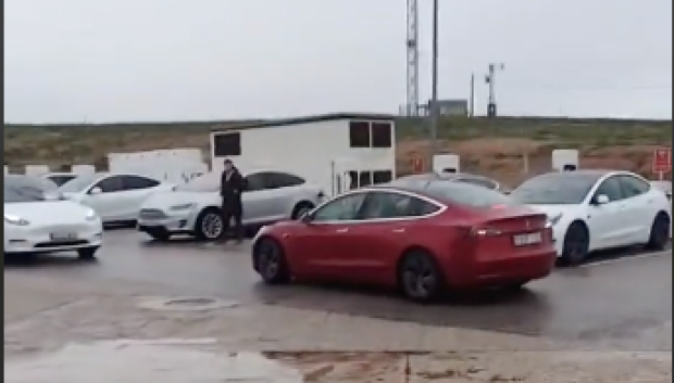
[[[264,283],[283,284],[290,281],[290,270],[283,246],[272,238],[262,238],[253,248],[254,268]]]

